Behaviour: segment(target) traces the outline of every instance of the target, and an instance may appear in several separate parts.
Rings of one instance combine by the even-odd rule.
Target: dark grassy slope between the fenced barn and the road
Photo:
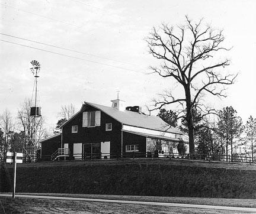
[[[102,160],[17,166],[17,192],[256,198],[254,165]],[[7,166],[5,170],[2,168],[0,176],[11,182],[11,174],[12,167]],[[8,191],[1,183],[2,191]]]

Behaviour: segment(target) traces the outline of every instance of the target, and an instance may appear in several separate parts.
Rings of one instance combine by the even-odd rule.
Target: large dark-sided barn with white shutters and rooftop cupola
[[[139,106],[124,107],[119,97],[112,106],[84,102],[80,111],[60,128],[61,134],[41,140],[41,158],[73,160],[118,158],[135,154],[177,153],[183,132]]]

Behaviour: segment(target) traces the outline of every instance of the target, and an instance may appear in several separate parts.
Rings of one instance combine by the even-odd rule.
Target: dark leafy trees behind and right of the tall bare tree
[[[188,134],[187,121],[180,119],[178,122],[177,114],[175,111],[161,109],[158,116],[169,125],[180,128]],[[232,161],[237,155],[249,155],[254,160],[256,119],[250,116],[243,125],[242,119],[232,106],[226,106],[217,111],[214,119],[215,122],[205,120],[201,116],[200,109],[193,109],[195,154],[203,159],[210,156],[214,160],[225,158],[226,161]],[[242,154],[238,154],[235,148],[237,150],[241,146],[243,147]]]

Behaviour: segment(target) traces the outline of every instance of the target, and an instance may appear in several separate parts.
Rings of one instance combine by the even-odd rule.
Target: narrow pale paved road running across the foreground
[[[12,197],[12,194],[0,194],[0,197]],[[32,199],[53,199],[53,200],[75,200],[84,202],[104,202],[104,203],[126,203],[136,205],[155,205],[155,206],[171,206],[171,207],[191,207],[200,209],[216,209],[216,210],[233,210],[236,212],[255,212],[256,208],[250,207],[233,207],[233,206],[211,206],[211,205],[192,205],[187,203],[161,203],[161,202],[139,202],[133,200],[110,200],[110,199],[88,199],[82,197],[58,197],[58,196],[37,196],[28,194],[16,194],[15,197],[32,198]]]

